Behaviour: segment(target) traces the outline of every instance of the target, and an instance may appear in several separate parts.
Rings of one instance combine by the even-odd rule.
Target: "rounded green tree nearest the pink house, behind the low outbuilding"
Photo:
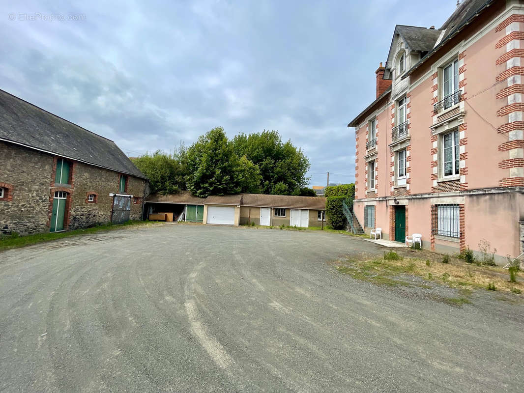
[[[238,134],[232,142],[238,156],[246,156],[258,167],[260,192],[291,195],[307,185],[308,158],[291,141],[283,143],[277,131]]]

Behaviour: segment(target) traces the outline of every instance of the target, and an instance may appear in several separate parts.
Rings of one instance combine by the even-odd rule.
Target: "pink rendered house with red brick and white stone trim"
[[[486,241],[499,263],[521,254],[524,1],[465,0],[440,29],[397,25],[376,78],[348,124],[364,230],[420,233],[444,253]]]

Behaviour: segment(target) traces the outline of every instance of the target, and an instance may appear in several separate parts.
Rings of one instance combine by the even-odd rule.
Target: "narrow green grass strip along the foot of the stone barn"
[[[37,233],[34,235],[19,236],[17,233],[13,233],[10,236],[1,236],[0,237],[0,251],[7,250],[10,248],[25,247],[31,244],[50,242],[57,239],[62,239],[64,237],[73,237],[84,234],[96,233],[101,231],[112,231],[122,228],[134,228],[144,225],[158,225],[150,221],[127,221],[123,224],[104,224],[97,225],[91,228],[79,229],[74,231],[67,232],[58,232],[58,233]]]

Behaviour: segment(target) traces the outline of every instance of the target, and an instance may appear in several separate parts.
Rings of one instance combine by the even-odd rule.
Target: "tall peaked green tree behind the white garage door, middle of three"
[[[222,127],[200,136],[181,157],[188,170],[187,188],[196,196],[259,191],[257,166],[235,154]]]

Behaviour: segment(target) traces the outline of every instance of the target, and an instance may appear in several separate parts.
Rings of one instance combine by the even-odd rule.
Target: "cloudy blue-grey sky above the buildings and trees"
[[[456,1],[2,3],[1,89],[130,156],[276,129],[320,185],[354,181],[346,125],[375,99],[395,25],[438,28]]]

